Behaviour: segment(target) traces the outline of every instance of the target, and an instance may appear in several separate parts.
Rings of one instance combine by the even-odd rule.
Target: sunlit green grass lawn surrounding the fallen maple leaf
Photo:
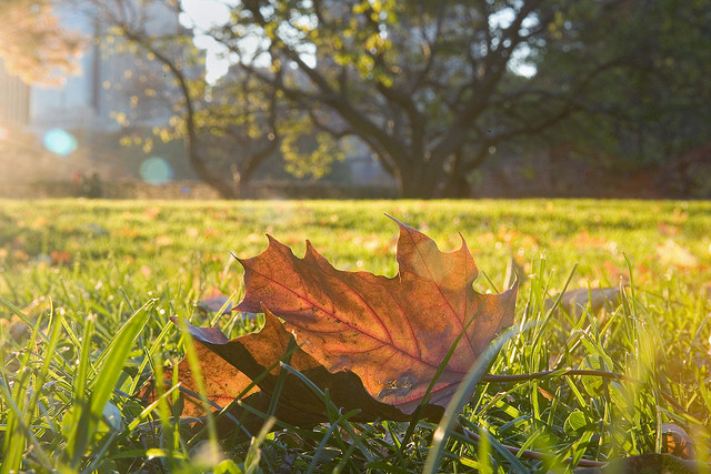
[[[459,248],[461,233],[480,292],[501,290],[510,261],[520,269],[517,322],[537,324],[504,346],[492,374],[621,375],[481,383],[428,468],[562,470],[568,458],[654,453],[663,423],[689,432],[708,461],[710,202],[59,200],[0,201],[0,472],[422,471],[429,422],[405,445],[408,423],[343,421],[222,443],[216,456],[208,436],[128,396],[184,353],[170,315],[231,336],[256,330],[239,313],[198,307],[218,293],[239,300],[230,252],[253,256],[269,233],[301,255],[309,239],[339,269],[393,275],[397,225],[385,213],[442,250]],[[567,282],[622,284],[624,294],[597,315],[549,311]]]

